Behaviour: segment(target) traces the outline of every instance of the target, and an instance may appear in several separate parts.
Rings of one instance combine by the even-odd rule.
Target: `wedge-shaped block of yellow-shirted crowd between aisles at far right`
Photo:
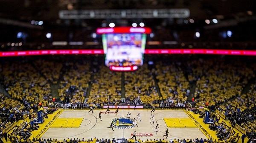
[[[199,106],[218,106],[239,96],[253,76],[252,68],[241,62],[221,59],[194,60],[189,63],[189,81],[196,82],[195,102]]]

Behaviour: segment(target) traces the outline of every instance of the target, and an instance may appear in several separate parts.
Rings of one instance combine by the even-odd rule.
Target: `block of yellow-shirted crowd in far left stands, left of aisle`
[[[51,101],[49,83],[28,63],[5,63],[4,86],[12,98],[24,99],[31,104],[41,102],[44,106]]]

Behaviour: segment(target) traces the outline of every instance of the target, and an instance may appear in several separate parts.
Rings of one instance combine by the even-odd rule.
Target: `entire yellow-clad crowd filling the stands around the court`
[[[254,64],[239,61],[231,64],[217,58],[189,60],[183,63],[187,71],[177,61],[160,61],[153,68],[144,64],[135,72],[123,73],[125,101],[122,101],[122,73],[112,72],[103,64],[94,71],[89,63],[90,60],[64,63],[35,60],[35,65],[27,61],[1,62],[0,77],[3,79],[0,83],[9,95],[0,94],[0,129],[19,120],[22,115],[44,106],[52,107],[51,84],[59,83],[59,107],[86,109],[111,104],[137,104],[146,108],[185,107],[191,94],[189,83],[194,83],[196,88],[192,94],[196,106],[216,107],[233,126],[238,123],[248,133],[256,132],[255,113],[246,112],[256,107],[256,84],[251,85],[247,94],[241,95],[248,81],[255,77]],[[89,84],[90,95],[86,100]],[[22,123],[9,134],[9,138],[12,142],[25,142],[36,126]],[[224,122],[215,122],[212,127],[220,140],[236,143],[239,139]]]

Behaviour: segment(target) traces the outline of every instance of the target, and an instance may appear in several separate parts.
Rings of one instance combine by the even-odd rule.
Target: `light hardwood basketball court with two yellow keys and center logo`
[[[166,128],[169,131],[169,139],[195,139],[207,138],[207,134],[200,129],[198,122],[189,117],[185,110],[156,110],[154,123],[151,118],[151,110],[147,109],[106,109],[93,110],[58,110],[40,125],[40,128],[32,132],[32,137],[67,139],[69,138],[130,138],[136,130],[137,139],[163,139]],[[96,119],[102,112],[102,121]],[[131,113],[131,119],[128,118]],[[140,113],[140,119],[137,114]],[[137,120],[137,125],[134,124]],[[141,120],[141,121],[140,121]],[[113,130],[107,128],[113,123]],[[158,132],[156,133],[156,125]],[[207,126],[207,125],[206,125]],[[165,138],[165,137],[164,137]],[[209,138],[209,137],[208,137]]]

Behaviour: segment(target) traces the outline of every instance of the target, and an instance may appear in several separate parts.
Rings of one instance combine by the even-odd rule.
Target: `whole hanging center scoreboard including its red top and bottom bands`
[[[150,28],[115,27],[98,28],[102,34],[105,65],[113,71],[134,71],[143,65],[146,34]]]

